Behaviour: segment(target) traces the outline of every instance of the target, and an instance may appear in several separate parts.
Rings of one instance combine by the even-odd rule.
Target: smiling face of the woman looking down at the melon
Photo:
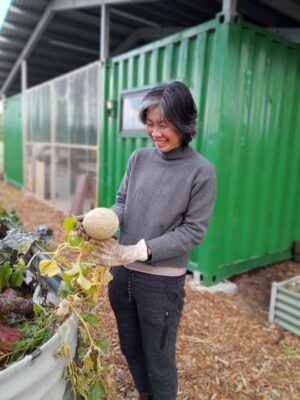
[[[161,118],[158,107],[148,110],[145,127],[157,150],[166,153],[180,147],[181,137],[169,122]]]

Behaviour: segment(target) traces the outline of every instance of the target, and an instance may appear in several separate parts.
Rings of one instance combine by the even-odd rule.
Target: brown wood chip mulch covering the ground
[[[62,240],[64,214],[33,195],[0,182],[0,200],[15,209],[25,230],[38,224],[53,228]],[[236,294],[211,294],[191,288],[177,341],[178,400],[299,400],[300,338],[268,322],[273,281],[300,275],[291,260],[257,268],[231,279]],[[117,399],[137,399],[118,345],[107,292],[99,303],[103,336],[110,340]]]

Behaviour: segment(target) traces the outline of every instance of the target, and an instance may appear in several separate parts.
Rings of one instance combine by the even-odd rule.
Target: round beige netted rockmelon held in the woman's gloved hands
[[[85,232],[93,239],[111,238],[119,229],[119,219],[109,208],[98,207],[87,212],[82,221]]]

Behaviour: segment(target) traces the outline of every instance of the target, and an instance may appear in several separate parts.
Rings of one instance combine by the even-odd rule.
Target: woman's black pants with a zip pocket
[[[109,299],[136,388],[154,400],[177,393],[175,344],[185,275],[165,277],[113,267]]]

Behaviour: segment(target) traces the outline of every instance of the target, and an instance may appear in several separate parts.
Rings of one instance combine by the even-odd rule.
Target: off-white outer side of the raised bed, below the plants
[[[77,319],[68,318],[57,333],[38,351],[0,372],[1,400],[62,400],[66,389],[65,357],[54,357],[63,341],[74,356],[77,345]]]

